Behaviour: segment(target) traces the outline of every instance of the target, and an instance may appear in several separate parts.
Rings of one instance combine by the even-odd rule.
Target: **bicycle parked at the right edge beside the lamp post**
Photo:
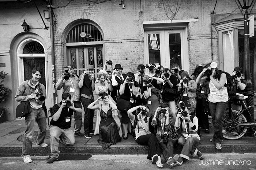
[[[249,113],[248,109],[256,107],[256,104],[247,107],[244,103],[244,99],[248,98],[248,96],[252,96],[253,94],[245,94],[245,96],[233,96],[233,99],[229,100],[229,107],[225,111],[223,115],[223,127],[222,127],[222,134],[225,139],[235,140],[242,138],[248,129],[252,129],[255,131],[253,134],[254,137],[256,136],[256,122],[247,122],[247,119],[244,113]],[[231,109],[231,103],[238,103],[242,102],[242,105],[245,107],[240,111]],[[236,103],[237,104],[237,103]],[[249,113],[251,120],[251,114]]]

